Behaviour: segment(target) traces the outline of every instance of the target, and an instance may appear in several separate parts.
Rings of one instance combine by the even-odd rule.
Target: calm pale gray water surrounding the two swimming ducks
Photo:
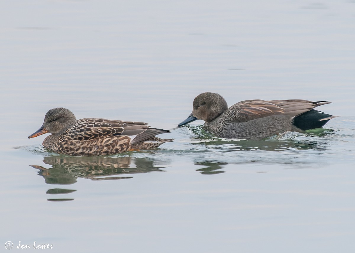
[[[0,21],[1,252],[354,252],[354,1],[20,0]],[[263,141],[177,128],[204,91],[342,117]],[[27,136],[59,106],[176,140],[48,153]]]

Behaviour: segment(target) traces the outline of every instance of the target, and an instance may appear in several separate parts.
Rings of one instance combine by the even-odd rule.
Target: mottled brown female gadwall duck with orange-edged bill
[[[117,154],[129,150],[157,148],[174,139],[160,139],[157,134],[169,130],[151,128],[147,123],[109,119],[79,119],[65,108],[50,109],[44,122],[28,138],[51,133],[42,145],[56,153],[70,156]]]

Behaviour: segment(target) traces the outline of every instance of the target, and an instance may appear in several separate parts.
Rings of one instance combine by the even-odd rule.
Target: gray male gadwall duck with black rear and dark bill
[[[222,138],[261,140],[286,131],[302,132],[321,128],[332,116],[313,108],[331,102],[291,100],[245,100],[228,108],[224,98],[204,92],[193,100],[191,115],[179,127],[196,119]]]

